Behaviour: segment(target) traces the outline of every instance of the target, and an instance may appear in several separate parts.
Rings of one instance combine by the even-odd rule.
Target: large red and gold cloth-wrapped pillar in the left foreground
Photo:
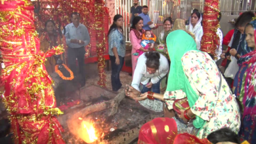
[[[5,0],[0,5],[2,96],[11,114],[14,143],[64,144],[62,126],[54,117],[62,112],[56,108],[53,82],[43,64],[64,49],[58,45],[45,53],[39,50],[33,9],[30,1]]]

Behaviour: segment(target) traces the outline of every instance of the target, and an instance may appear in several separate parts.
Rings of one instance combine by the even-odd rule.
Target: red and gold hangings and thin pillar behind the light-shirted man
[[[79,12],[80,22],[84,24],[91,38],[91,43],[85,46],[85,58],[92,56],[98,57],[98,74],[100,80],[98,84],[106,87],[106,75],[104,72],[105,58],[104,54],[108,54],[108,24],[110,16],[108,8],[104,7],[105,3],[102,0],[79,0],[79,1],[33,1],[35,6],[35,25],[37,31],[42,31],[45,27],[45,22],[49,19],[53,20],[58,28],[62,31],[67,24],[70,24],[70,14]],[[65,39],[63,39],[65,41]],[[66,46],[64,46],[66,48]]]

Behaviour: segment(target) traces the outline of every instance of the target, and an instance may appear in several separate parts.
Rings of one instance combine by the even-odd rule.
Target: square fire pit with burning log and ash
[[[58,117],[66,143],[136,143],[140,127],[162,113],[155,113],[125,97],[99,86],[80,90],[81,105]]]

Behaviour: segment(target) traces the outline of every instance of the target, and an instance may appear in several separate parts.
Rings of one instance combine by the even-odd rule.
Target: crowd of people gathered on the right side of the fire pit
[[[127,85],[126,95],[152,111],[163,111],[165,116],[142,126],[139,143],[182,143],[192,139],[198,143],[256,143],[253,12],[241,14],[235,29],[225,37],[217,29],[220,45],[214,54],[208,54],[200,50],[203,17],[198,10],[193,10],[187,26],[185,20],[165,19],[163,31],[155,36],[152,29],[156,27],[148,22],[148,7],[140,7],[136,0],[134,5],[129,32],[133,82]],[[141,13],[137,13],[140,8]],[[115,28],[110,31],[119,33],[121,40],[122,24],[117,24],[123,17],[116,16],[112,25]],[[145,36],[148,41],[142,43]],[[118,59],[123,48],[118,45],[124,41],[109,42],[110,53],[114,52]],[[224,50],[222,45],[229,48]],[[164,82],[167,88],[161,94],[160,83]]]

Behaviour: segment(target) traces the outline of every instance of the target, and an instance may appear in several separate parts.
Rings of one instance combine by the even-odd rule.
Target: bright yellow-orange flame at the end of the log
[[[79,118],[79,120],[83,120],[83,118]],[[104,133],[102,135],[98,133],[99,132],[95,130],[95,122],[93,120],[91,120],[91,122],[88,122],[86,120],[83,120],[81,122],[81,127],[79,128],[78,135],[86,143],[93,143],[98,139],[98,137],[104,136]]]

